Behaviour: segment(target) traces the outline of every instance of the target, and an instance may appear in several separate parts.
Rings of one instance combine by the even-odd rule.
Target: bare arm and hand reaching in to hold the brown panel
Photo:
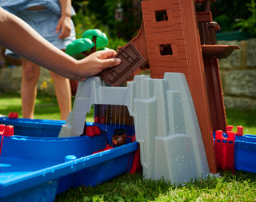
[[[5,46],[63,77],[78,81],[84,81],[87,77],[121,62],[118,58],[113,58],[116,54],[114,50],[99,51],[77,61],[47,42],[26,22],[2,8],[0,8],[0,46]]]

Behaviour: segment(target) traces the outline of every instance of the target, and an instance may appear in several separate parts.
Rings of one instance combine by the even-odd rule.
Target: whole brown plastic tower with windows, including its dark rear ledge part
[[[131,40],[149,61],[150,75],[162,78],[166,72],[184,73],[206,148],[210,172],[217,172],[212,132],[226,131],[217,58],[227,57],[237,46],[216,45],[210,0],[144,0],[143,22]],[[212,1],[213,2],[213,1]],[[204,3],[205,12],[196,14],[195,4]],[[200,34],[199,34],[200,33]]]

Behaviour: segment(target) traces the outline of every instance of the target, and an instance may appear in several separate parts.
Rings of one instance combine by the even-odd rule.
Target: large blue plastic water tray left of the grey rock
[[[0,136],[1,201],[54,201],[56,194],[67,188],[95,186],[129,172],[138,149],[138,143],[131,142],[134,128],[130,126],[123,126],[130,135],[126,145],[104,151],[111,141],[101,129],[105,125],[87,123],[88,129],[101,129],[102,133],[93,137],[61,138],[58,133],[63,121],[1,117],[0,123],[14,125],[14,133],[18,132]],[[43,131],[51,137],[43,137]],[[108,132],[114,133],[114,125],[108,125]]]

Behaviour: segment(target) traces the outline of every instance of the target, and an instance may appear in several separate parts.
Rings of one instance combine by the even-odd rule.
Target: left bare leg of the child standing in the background
[[[40,68],[31,61],[22,61],[22,115],[23,118],[34,118],[34,101],[37,97],[37,83]]]

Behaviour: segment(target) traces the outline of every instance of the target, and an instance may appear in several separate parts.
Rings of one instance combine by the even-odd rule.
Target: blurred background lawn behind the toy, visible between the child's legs
[[[73,100],[74,101],[74,98]],[[0,94],[0,114],[8,116],[10,112],[16,112],[22,117],[22,101],[17,93]],[[93,121],[92,113],[88,115],[87,121]],[[37,119],[60,119],[58,102],[55,96],[38,94],[34,109],[34,118]],[[245,134],[256,135],[256,110],[234,110],[226,109],[226,120],[228,125],[242,125]]]

